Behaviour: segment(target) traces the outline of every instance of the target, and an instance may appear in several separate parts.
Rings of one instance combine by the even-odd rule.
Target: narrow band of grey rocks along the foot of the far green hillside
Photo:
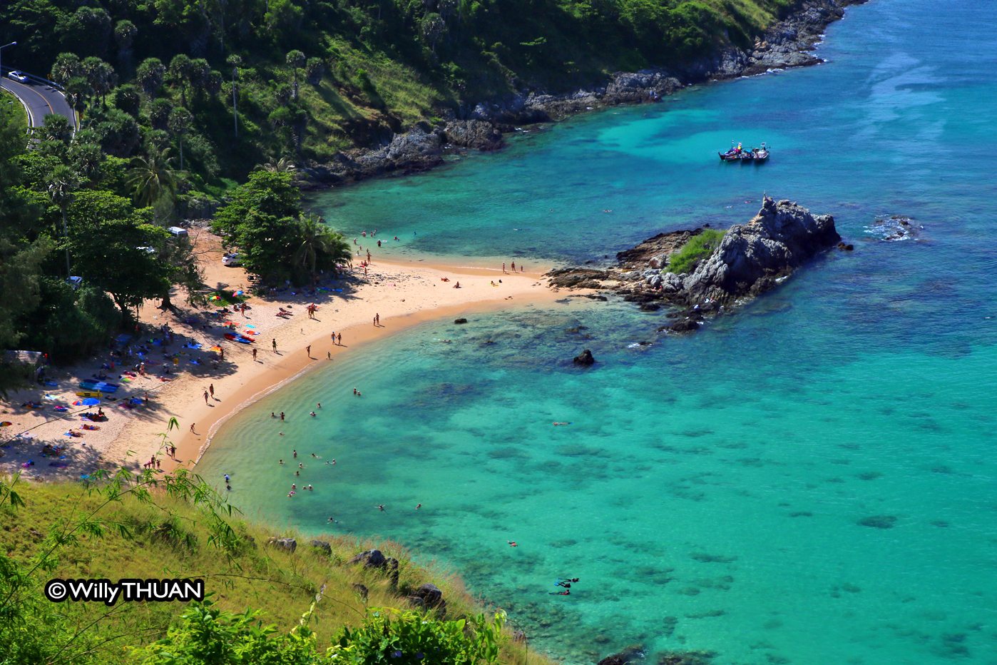
[[[338,153],[330,162],[300,167],[306,187],[344,184],[390,172],[412,173],[444,163],[448,154],[496,151],[503,134],[523,125],[558,121],[573,114],[622,104],[659,101],[677,90],[705,81],[754,76],[772,70],[816,65],[813,54],[824,31],[844,15],[848,5],[866,0],[800,0],[790,15],[769,28],[749,48],[727,46],[709,58],[673,70],[617,72],[589,89],[551,94],[524,90],[505,99],[483,102],[433,125],[417,123],[391,141],[368,149]]]

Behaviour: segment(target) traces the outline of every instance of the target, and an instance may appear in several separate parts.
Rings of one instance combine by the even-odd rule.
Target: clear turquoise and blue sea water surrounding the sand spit
[[[635,642],[718,663],[997,662],[992,24],[982,0],[873,0],[831,27],[824,66],[321,195],[398,253],[598,258],[743,221],[763,191],[833,213],[856,249],[691,337],[605,303],[421,326],[246,410],[199,471],[271,523],[331,514],[453,566],[567,662]],[[716,164],[733,138],[768,141],[772,163]],[[879,240],[883,213],[921,238]],[[580,371],[586,347],[599,363]],[[277,465],[294,448],[299,479]],[[295,481],[315,490],[287,499]],[[571,595],[547,595],[568,574]]]

